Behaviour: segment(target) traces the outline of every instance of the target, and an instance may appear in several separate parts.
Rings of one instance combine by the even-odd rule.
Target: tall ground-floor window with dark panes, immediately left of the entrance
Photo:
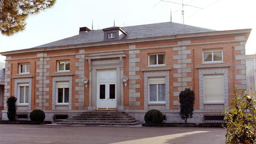
[[[56,104],[69,103],[69,83],[59,82],[56,83]]]

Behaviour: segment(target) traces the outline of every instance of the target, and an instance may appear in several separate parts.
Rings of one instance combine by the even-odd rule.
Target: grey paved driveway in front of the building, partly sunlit
[[[0,144],[224,144],[225,129],[0,124]]]

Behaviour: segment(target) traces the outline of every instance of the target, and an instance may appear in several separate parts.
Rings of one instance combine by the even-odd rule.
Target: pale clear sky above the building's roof
[[[168,0],[181,3],[181,0]],[[158,3],[159,2],[159,3]],[[185,24],[215,30],[252,28],[246,54],[256,53],[256,0],[183,0]],[[0,34],[0,52],[46,44],[73,35],[79,27],[102,29],[170,21],[181,23],[181,5],[160,0],[57,0],[54,7],[27,19],[25,31]],[[198,11],[200,10],[200,11]],[[0,56],[4,62],[5,57]]]

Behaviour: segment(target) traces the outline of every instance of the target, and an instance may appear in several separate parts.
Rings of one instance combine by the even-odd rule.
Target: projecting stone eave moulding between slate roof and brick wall
[[[137,42],[148,42],[148,41],[157,41],[157,40],[175,40],[175,39],[184,39],[184,38],[193,38],[193,37],[202,37],[202,36],[215,36],[215,35],[230,35],[230,34],[239,34],[239,33],[251,33],[251,29],[239,29],[239,30],[228,30],[228,31],[212,31],[206,33],[190,33],[190,34],[180,34],[180,35],[169,35],[169,36],[160,36],[160,37],[151,37],[151,38],[136,38],[130,40],[118,40],[112,42],[95,42],[88,44],[79,44],[79,45],[66,45],[66,46],[57,46],[57,47],[44,47],[44,48],[29,48],[23,50],[14,50],[8,52],[1,52],[1,55],[7,56],[10,54],[20,54],[20,53],[30,53],[30,52],[40,52],[40,51],[51,51],[51,50],[64,50],[72,48],[85,48],[85,47],[96,47],[96,46],[106,46],[106,45],[120,45],[128,43],[137,43]]]

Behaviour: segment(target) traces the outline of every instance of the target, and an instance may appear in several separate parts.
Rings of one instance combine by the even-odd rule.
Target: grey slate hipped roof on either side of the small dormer
[[[163,22],[163,23],[145,24],[145,25],[138,25],[138,26],[125,26],[121,28],[128,33],[121,40],[130,40],[130,39],[136,39],[136,38],[151,38],[151,37],[158,37],[158,36],[179,35],[179,34],[188,34],[188,33],[204,33],[204,32],[215,31],[212,29],[189,26],[185,24],[178,24],[174,22]],[[104,42],[104,32],[102,31],[102,29],[89,31],[87,33],[80,33],[79,35],[74,35],[69,38],[57,40],[55,42],[50,42],[34,48],[79,45],[79,44],[88,44],[88,43],[95,43],[95,42]]]

